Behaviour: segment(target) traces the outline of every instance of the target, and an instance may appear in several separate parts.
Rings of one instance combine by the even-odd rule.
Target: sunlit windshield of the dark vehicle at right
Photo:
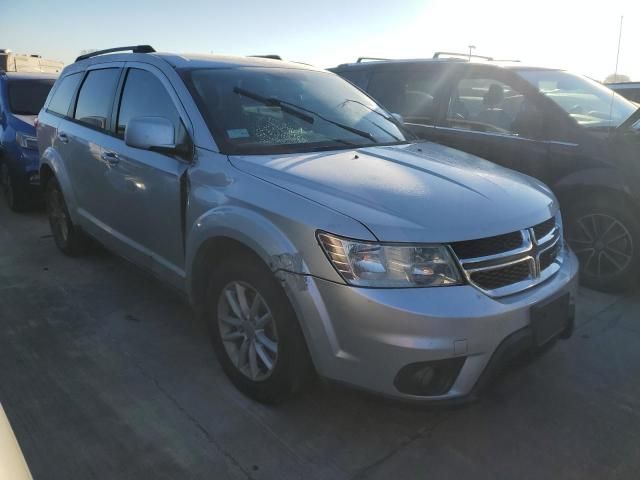
[[[637,109],[613,90],[581,75],[558,70],[518,73],[584,127],[618,127]]]

